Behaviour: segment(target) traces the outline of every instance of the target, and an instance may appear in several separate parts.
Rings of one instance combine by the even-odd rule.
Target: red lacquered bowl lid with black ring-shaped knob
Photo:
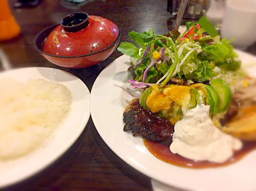
[[[77,12],[62,19],[42,44],[44,53],[55,56],[80,56],[102,51],[119,38],[115,23],[100,16]]]

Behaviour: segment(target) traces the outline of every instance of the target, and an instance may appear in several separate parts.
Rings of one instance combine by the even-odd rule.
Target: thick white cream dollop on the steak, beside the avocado
[[[188,159],[223,163],[242,148],[242,142],[214,126],[210,106],[182,109],[183,118],[174,126],[170,150]]]

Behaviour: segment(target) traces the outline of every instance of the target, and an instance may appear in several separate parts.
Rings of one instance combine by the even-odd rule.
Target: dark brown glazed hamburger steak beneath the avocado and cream
[[[232,99],[224,119],[221,120],[222,125],[237,113],[238,104]],[[125,123],[123,130],[131,132],[133,136],[141,136],[165,145],[170,145],[172,142],[174,126],[166,118],[143,109],[139,104],[139,98],[134,98],[126,106],[123,112],[123,122]]]

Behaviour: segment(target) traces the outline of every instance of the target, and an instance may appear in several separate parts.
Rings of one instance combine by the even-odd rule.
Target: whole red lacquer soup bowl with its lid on
[[[36,49],[51,63],[84,68],[101,63],[117,48],[120,30],[112,21],[78,12],[40,32]]]

